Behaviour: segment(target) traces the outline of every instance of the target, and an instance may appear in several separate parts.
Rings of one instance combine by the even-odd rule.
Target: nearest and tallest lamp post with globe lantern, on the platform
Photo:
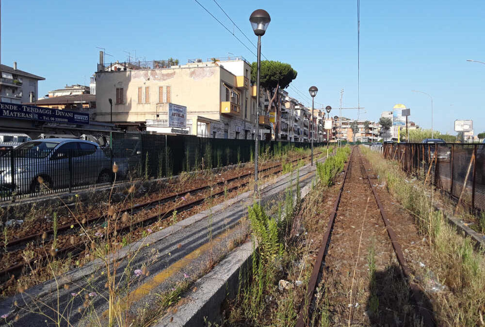
[[[254,195],[258,194],[258,155],[259,155],[259,74],[261,72],[261,36],[264,35],[268,25],[270,24],[271,17],[263,9],[258,9],[253,11],[251,16],[249,16],[249,21],[251,22],[251,27],[253,28],[254,34],[258,36],[258,76],[256,79],[256,138],[254,140]]]

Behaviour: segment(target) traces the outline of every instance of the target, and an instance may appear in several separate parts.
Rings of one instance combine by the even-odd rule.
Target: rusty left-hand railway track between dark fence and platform
[[[320,153],[315,154],[318,155]],[[302,158],[297,158],[289,161],[289,163],[294,164],[295,162],[298,162],[299,160],[306,160],[310,156],[305,156]],[[272,174],[277,174],[283,170],[282,163],[278,163],[276,165],[272,165],[270,167],[266,167],[264,169],[261,169],[260,172],[264,173],[263,176],[269,176]],[[214,191],[211,196],[212,197],[219,197],[221,195],[224,195],[226,193],[235,191],[241,187],[245,187],[251,182],[251,176],[253,175],[253,172],[247,172],[240,174],[238,176],[232,177],[230,179],[227,179],[225,181],[219,181],[216,183],[208,183],[206,185],[200,186],[200,187],[194,187],[190,189],[185,189],[181,192],[169,194],[162,196],[158,199],[147,201],[147,202],[142,202],[138,203],[135,205],[130,205],[122,208],[121,210],[117,210],[117,215],[121,217],[122,214],[129,213],[131,217],[135,217],[137,213],[142,213],[144,210],[150,210],[153,208],[157,208],[158,206],[162,205],[170,205],[169,209],[163,210],[163,212],[157,212],[156,214],[153,215],[148,215],[146,217],[143,217],[142,219],[139,220],[134,220],[130,221],[127,224],[121,224],[117,226],[115,229],[110,230],[109,233],[116,233],[117,235],[122,235],[129,233],[129,231],[132,231],[133,229],[136,229],[141,226],[146,226],[149,225],[155,221],[160,221],[160,220],[165,220],[169,217],[171,217],[172,213],[177,211],[178,213],[188,211],[192,208],[194,208],[197,205],[200,205],[201,203],[205,202],[207,200],[206,196],[202,196],[203,193],[209,188],[219,188],[231,183],[234,183],[234,185],[230,185],[229,187],[222,188],[220,190]],[[183,197],[187,193],[191,194],[191,199],[189,201],[183,201],[176,203],[177,199]],[[198,196],[197,196],[198,195]],[[201,197],[202,196],[202,197]],[[69,236],[69,235],[76,235],[82,232],[84,228],[89,228],[89,229],[96,229],[102,224],[106,223],[107,215],[99,215],[96,217],[88,218],[84,223],[82,222],[75,222],[73,224],[65,224],[63,226],[60,226],[57,228],[57,237],[60,236]],[[89,226],[89,227],[88,227]],[[6,249],[7,251],[22,251],[23,249],[26,248],[27,244],[37,242],[38,245],[42,245],[42,247],[45,247],[45,250],[43,252],[40,252],[40,256],[35,256],[29,260],[24,260],[18,264],[12,265],[6,269],[0,270],[0,282],[5,282],[8,281],[12,278],[12,276],[19,276],[22,274],[23,269],[28,266],[32,266],[34,262],[42,262],[45,263],[49,259],[49,255],[51,256],[52,253],[49,253],[50,251],[48,250],[50,241],[53,240],[53,234],[54,230],[50,229],[48,231],[41,231],[41,232],[36,232],[34,234],[18,238],[15,240],[12,240],[7,243]],[[49,239],[47,238],[49,237]],[[72,240],[72,238],[71,238]],[[55,257],[56,258],[65,258],[69,256],[70,258],[76,258],[79,256],[85,249],[86,245],[83,240],[80,242],[72,242],[72,244],[68,244],[67,246],[61,247],[60,249],[57,249],[55,252]],[[37,265],[39,266],[39,265]],[[40,265],[42,267],[44,265]],[[3,288],[4,285],[0,286],[0,289]]]

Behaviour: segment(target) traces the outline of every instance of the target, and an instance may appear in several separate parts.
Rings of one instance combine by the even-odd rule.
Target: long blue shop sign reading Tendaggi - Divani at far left
[[[89,113],[0,102],[0,117],[51,123],[89,124]]]

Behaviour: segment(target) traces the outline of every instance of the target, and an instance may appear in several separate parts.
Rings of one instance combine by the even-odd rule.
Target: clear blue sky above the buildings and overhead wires
[[[217,0],[253,42],[249,15],[265,9],[272,21],[262,53],[298,71],[292,85],[305,95],[316,85],[319,104],[357,107],[356,0]],[[199,0],[252,47],[213,0]],[[19,15],[21,12],[21,15]],[[485,130],[485,1],[361,0],[360,106],[362,118],[378,120],[397,103],[411,108],[411,120],[453,132],[455,119],[472,119],[475,134]],[[194,0],[65,1],[3,0],[1,63],[46,78],[40,94],[65,84],[86,83],[96,70],[98,51],[126,60],[187,59],[254,54],[242,46]],[[256,52],[256,51],[255,51]],[[294,89],[290,94],[307,101]],[[308,103],[308,102],[307,102]],[[337,110],[332,114],[337,114]],[[346,110],[356,118],[356,110]]]

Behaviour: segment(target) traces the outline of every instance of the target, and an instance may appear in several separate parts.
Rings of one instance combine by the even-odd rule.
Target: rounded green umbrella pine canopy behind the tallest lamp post
[[[251,64],[251,83],[256,84],[257,74],[258,63],[253,62]],[[289,63],[263,60],[261,61],[259,83],[266,90],[273,90],[277,86],[285,89],[296,78],[297,74]]]

